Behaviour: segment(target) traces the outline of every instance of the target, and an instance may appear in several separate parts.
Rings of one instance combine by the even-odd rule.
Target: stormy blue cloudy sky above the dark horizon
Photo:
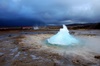
[[[0,0],[0,25],[100,22],[99,3],[100,0]]]

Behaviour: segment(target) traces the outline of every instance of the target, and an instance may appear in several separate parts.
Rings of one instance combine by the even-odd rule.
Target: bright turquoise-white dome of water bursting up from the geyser
[[[47,41],[50,44],[56,45],[74,45],[79,43],[76,38],[69,34],[69,30],[65,25],[63,25],[63,28],[60,29],[60,31],[56,35],[47,39]]]

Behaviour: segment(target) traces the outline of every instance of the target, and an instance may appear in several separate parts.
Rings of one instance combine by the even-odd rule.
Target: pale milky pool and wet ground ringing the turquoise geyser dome
[[[82,43],[77,45],[48,45],[45,40],[53,36],[53,34],[36,34],[36,35],[26,35],[22,43],[28,44],[29,46],[37,47],[41,50],[51,50],[55,52],[93,52],[99,53],[100,48],[100,36],[96,35],[75,35],[75,38],[78,38]],[[60,47],[61,46],[61,47]],[[77,52],[76,52],[77,53]],[[63,54],[63,53],[62,53]],[[78,53],[77,53],[78,54]]]

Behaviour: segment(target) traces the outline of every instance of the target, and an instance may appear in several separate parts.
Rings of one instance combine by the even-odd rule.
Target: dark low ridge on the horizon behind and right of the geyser
[[[69,29],[100,29],[100,22],[98,23],[85,23],[85,24],[67,24],[66,25]],[[49,29],[60,29],[62,25],[51,25],[48,26]]]

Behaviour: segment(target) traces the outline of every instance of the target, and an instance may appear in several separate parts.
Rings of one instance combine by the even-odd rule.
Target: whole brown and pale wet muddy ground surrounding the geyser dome
[[[56,31],[0,34],[0,66],[100,66],[100,30],[70,30],[81,44],[52,46]]]

